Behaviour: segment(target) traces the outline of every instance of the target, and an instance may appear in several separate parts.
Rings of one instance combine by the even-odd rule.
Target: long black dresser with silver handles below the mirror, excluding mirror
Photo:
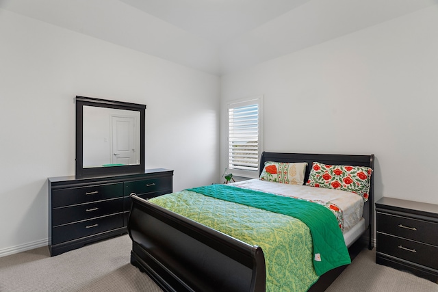
[[[172,192],[172,170],[92,178],[53,177],[49,184],[51,256],[127,233],[131,194],[148,199]]]

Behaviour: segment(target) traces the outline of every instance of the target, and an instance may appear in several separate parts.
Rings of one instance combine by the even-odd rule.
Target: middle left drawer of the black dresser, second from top
[[[121,212],[123,212],[123,198],[60,207],[52,211],[52,225],[55,227]]]

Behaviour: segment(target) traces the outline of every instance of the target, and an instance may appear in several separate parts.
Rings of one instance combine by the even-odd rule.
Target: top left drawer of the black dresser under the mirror
[[[83,204],[123,196],[123,183],[53,189],[52,208]]]

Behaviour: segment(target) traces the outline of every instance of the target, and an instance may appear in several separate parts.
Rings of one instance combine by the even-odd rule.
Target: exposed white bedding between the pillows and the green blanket
[[[324,189],[322,187],[309,187],[307,185],[274,183],[270,181],[261,181],[259,178],[232,183],[232,185],[247,189],[255,189],[257,191],[264,191],[266,193],[280,196],[293,196],[294,198],[301,198],[303,200],[331,202],[339,207],[344,214],[344,235],[348,235],[349,230],[351,230],[352,227],[358,224],[362,219],[363,198],[357,194],[350,193],[349,191]],[[363,226],[365,226],[365,223]]]

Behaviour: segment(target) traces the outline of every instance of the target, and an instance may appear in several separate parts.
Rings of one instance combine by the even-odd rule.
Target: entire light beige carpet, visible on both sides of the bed
[[[127,235],[59,256],[47,247],[0,258],[0,292],[160,292],[146,274],[129,263]],[[438,292],[438,284],[376,265],[374,250],[363,250],[327,291]]]

